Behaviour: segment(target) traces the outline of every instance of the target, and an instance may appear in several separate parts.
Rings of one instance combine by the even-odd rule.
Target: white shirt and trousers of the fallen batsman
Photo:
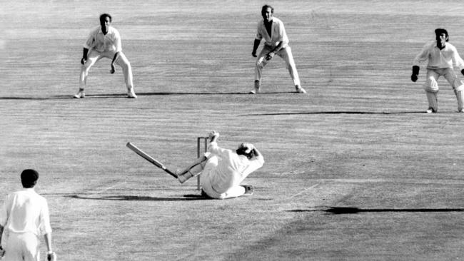
[[[211,153],[201,173],[203,190],[211,198],[235,198],[245,193],[240,183],[253,171],[264,164],[263,156],[248,160],[232,150],[218,147],[218,143],[208,144]]]

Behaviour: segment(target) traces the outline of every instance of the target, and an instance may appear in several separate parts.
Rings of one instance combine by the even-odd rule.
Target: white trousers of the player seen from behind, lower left
[[[39,261],[39,238],[31,232],[4,233],[2,238],[5,255],[4,261]]]

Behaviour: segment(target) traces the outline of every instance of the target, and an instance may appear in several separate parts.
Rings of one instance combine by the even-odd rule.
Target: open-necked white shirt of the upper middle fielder
[[[283,42],[282,47],[286,47],[288,45],[288,37],[285,31],[285,27],[283,27],[283,22],[276,17],[272,18],[271,36],[269,36],[268,31],[266,30],[264,19],[261,19],[261,21],[258,22],[258,32],[256,33],[256,39],[264,39],[264,44],[271,47],[276,47],[281,42]]]

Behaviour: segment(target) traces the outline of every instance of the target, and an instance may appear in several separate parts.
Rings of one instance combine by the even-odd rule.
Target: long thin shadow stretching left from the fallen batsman
[[[76,198],[79,200],[123,200],[123,201],[186,201],[186,200],[210,200],[201,195],[184,195],[183,198],[166,198],[166,197],[148,197],[136,195],[109,195],[109,196],[94,196],[86,197],[81,195],[69,195],[68,198]]]

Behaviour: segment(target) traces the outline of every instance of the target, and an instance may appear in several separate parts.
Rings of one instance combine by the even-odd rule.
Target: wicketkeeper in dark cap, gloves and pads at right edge
[[[453,66],[460,68],[460,72],[464,75],[464,61],[460,58],[455,46],[448,43],[450,37],[445,29],[435,29],[435,41],[430,41],[425,44],[422,51],[415,57],[413,61],[413,74],[411,81],[418,80],[420,63],[428,60],[427,76],[423,88],[428,100],[427,113],[436,113],[438,111],[438,83],[440,76],[445,79],[453,87],[453,91],[458,100],[458,112],[464,112],[464,84],[458,79]]]

